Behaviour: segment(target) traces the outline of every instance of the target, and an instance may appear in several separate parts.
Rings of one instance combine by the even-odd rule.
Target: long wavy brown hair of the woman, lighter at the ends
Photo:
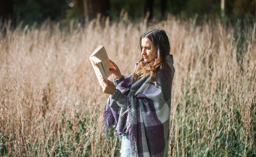
[[[150,81],[157,85],[156,81],[154,80],[154,76],[156,75],[157,70],[163,68],[164,63],[166,62],[166,56],[170,53],[171,47],[169,39],[166,35],[166,31],[162,29],[153,29],[148,31],[140,36],[139,46],[141,51],[141,41],[143,38],[148,38],[152,42],[156,50],[157,57],[154,58],[151,62],[144,62],[144,58],[142,56],[142,59],[140,59],[137,64],[137,68],[134,70],[133,83],[138,81],[143,76],[150,76]]]

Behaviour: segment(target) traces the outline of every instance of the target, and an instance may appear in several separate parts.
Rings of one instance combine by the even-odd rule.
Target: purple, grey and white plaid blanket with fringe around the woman
[[[112,125],[116,135],[129,134],[133,157],[168,156],[174,72],[172,55],[169,55],[154,77],[157,86],[149,77],[131,84],[130,75],[121,80],[116,92],[106,102],[103,112],[105,134]]]

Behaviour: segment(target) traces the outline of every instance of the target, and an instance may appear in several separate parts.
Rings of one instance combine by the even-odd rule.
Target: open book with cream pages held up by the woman
[[[96,50],[94,50],[94,52],[90,55],[89,59],[93,65],[93,69],[99,82],[102,80],[99,77],[100,75],[103,76],[105,80],[111,76],[111,71],[109,70],[111,65],[108,59],[107,51],[103,45],[96,48]]]

